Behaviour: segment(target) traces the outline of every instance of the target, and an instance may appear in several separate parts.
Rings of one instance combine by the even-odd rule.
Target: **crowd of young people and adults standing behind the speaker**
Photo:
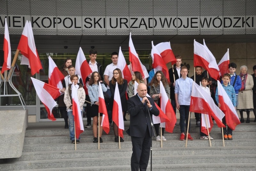
[[[126,112],[129,109],[127,105],[127,97],[132,98],[136,96],[138,90],[134,89],[134,84],[137,82],[138,84],[147,85],[147,89],[149,90],[148,94],[154,100],[156,105],[160,107],[160,81],[163,83],[165,93],[169,97],[172,108],[176,114],[176,109],[180,112],[180,140],[185,139],[185,127],[188,129],[188,140],[193,140],[190,135],[190,124],[188,127],[188,119],[189,108],[190,108],[190,96],[192,83],[196,82],[200,85],[211,97],[213,98],[216,105],[220,107],[219,99],[218,99],[218,89],[217,89],[217,81],[208,76],[207,71],[203,72],[203,68],[201,66],[195,66],[195,75],[188,77],[188,68],[182,65],[181,57],[176,57],[176,63],[172,68],[169,69],[169,80],[165,77],[162,71],[155,72],[154,69],[150,70],[148,74],[148,78],[142,78],[142,74],[138,71],[132,73],[132,80],[127,82],[123,78],[122,71],[117,68],[118,61],[118,53],[113,52],[111,54],[112,63],[109,64],[104,71],[102,65],[96,61],[97,51],[92,49],[89,52],[88,64],[92,70],[92,74],[86,78],[86,87],[88,89],[88,93],[85,94],[84,89],[82,89],[83,82],[79,75],[76,75],[75,67],[72,65],[72,60],[67,58],[65,60],[64,65],[61,68],[61,73],[65,76],[63,80],[63,89],[65,92],[58,99],[59,110],[62,118],[64,118],[65,126],[64,128],[69,128],[70,131],[70,140],[72,144],[75,143],[74,136],[74,118],[72,115],[72,97],[71,97],[71,84],[74,82],[75,87],[78,89],[78,98],[79,105],[81,108],[81,113],[83,111],[83,104],[86,103],[86,116],[87,116],[87,125],[85,128],[93,129],[93,143],[103,142],[102,139],[102,113],[100,113],[99,123],[98,123],[98,112],[99,112],[99,84],[101,84],[103,92],[105,92],[106,106],[108,109],[108,117],[109,124],[112,124],[112,108],[114,102],[114,94],[116,89],[116,83],[118,85],[118,90],[121,99],[122,112],[125,119]],[[231,99],[234,107],[239,110],[241,116],[241,123],[244,122],[243,112],[246,112],[247,119],[246,123],[250,123],[250,112],[253,111],[254,116],[256,118],[256,66],[253,66],[254,74],[247,74],[248,68],[247,66],[240,67],[240,74],[236,75],[236,64],[230,63],[228,65],[229,73],[224,74],[224,76],[220,79],[223,88],[227,92],[229,98]],[[147,84],[148,81],[148,84]],[[209,86],[210,85],[210,86]],[[209,88],[209,87],[210,88]],[[126,92],[127,91],[127,92]],[[127,94],[126,94],[127,93]],[[138,92],[139,93],[139,92]],[[126,96],[127,95],[127,96]],[[81,103],[80,103],[81,102]],[[151,104],[152,105],[152,104]],[[131,115],[131,113],[130,113]],[[208,140],[209,138],[213,140],[211,136],[207,136],[203,132],[201,132],[201,113],[195,113],[196,126],[200,127],[200,139]],[[208,115],[207,115],[208,116]],[[93,124],[91,124],[91,120],[93,120]],[[68,124],[69,121],[69,124]],[[225,124],[225,117],[223,118],[223,123]],[[254,120],[256,122],[256,119]],[[97,127],[100,129],[99,139],[97,137]],[[166,141],[164,137],[164,128],[162,129],[162,137],[159,136],[159,124],[154,124],[156,131],[156,141]],[[116,123],[113,123],[113,130],[115,134],[115,142],[119,142],[118,139],[118,127]],[[232,130],[230,128],[224,128],[224,139],[232,140]],[[76,140],[79,143],[79,139]],[[120,138],[120,142],[124,142],[123,138]]]

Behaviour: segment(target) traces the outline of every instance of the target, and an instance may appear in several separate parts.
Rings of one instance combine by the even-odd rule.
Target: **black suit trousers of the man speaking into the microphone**
[[[148,160],[150,155],[151,137],[147,128],[143,137],[131,136],[132,139],[132,171],[146,171],[148,167]]]

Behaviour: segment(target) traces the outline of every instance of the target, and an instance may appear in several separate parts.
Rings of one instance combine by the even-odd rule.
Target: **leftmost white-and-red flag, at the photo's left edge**
[[[4,64],[1,71],[2,74],[5,70],[9,70],[11,68],[11,44],[6,18],[4,23]]]

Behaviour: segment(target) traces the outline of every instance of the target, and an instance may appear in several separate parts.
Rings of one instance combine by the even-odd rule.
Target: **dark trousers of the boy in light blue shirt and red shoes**
[[[189,115],[190,105],[180,105],[180,132],[185,132],[185,120],[186,120],[186,130],[188,129],[188,133],[190,132],[190,120],[188,127],[188,115]]]

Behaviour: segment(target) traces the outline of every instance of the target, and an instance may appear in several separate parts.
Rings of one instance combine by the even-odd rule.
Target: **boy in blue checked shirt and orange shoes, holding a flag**
[[[224,90],[227,92],[228,97],[230,98],[230,100],[232,101],[235,109],[236,109],[236,92],[235,89],[232,85],[229,84],[230,82],[230,75],[229,74],[224,74],[222,77],[222,87],[224,88]],[[215,98],[216,101],[218,103],[218,106],[220,107],[220,102],[219,102],[219,96],[218,96],[218,89],[216,89],[216,94],[215,94]],[[222,119],[222,123],[224,125],[226,125],[226,118],[225,116]],[[224,134],[224,140],[233,140],[232,138],[232,132],[233,130],[230,129],[228,127],[228,129],[226,127],[223,128],[223,134]]]

